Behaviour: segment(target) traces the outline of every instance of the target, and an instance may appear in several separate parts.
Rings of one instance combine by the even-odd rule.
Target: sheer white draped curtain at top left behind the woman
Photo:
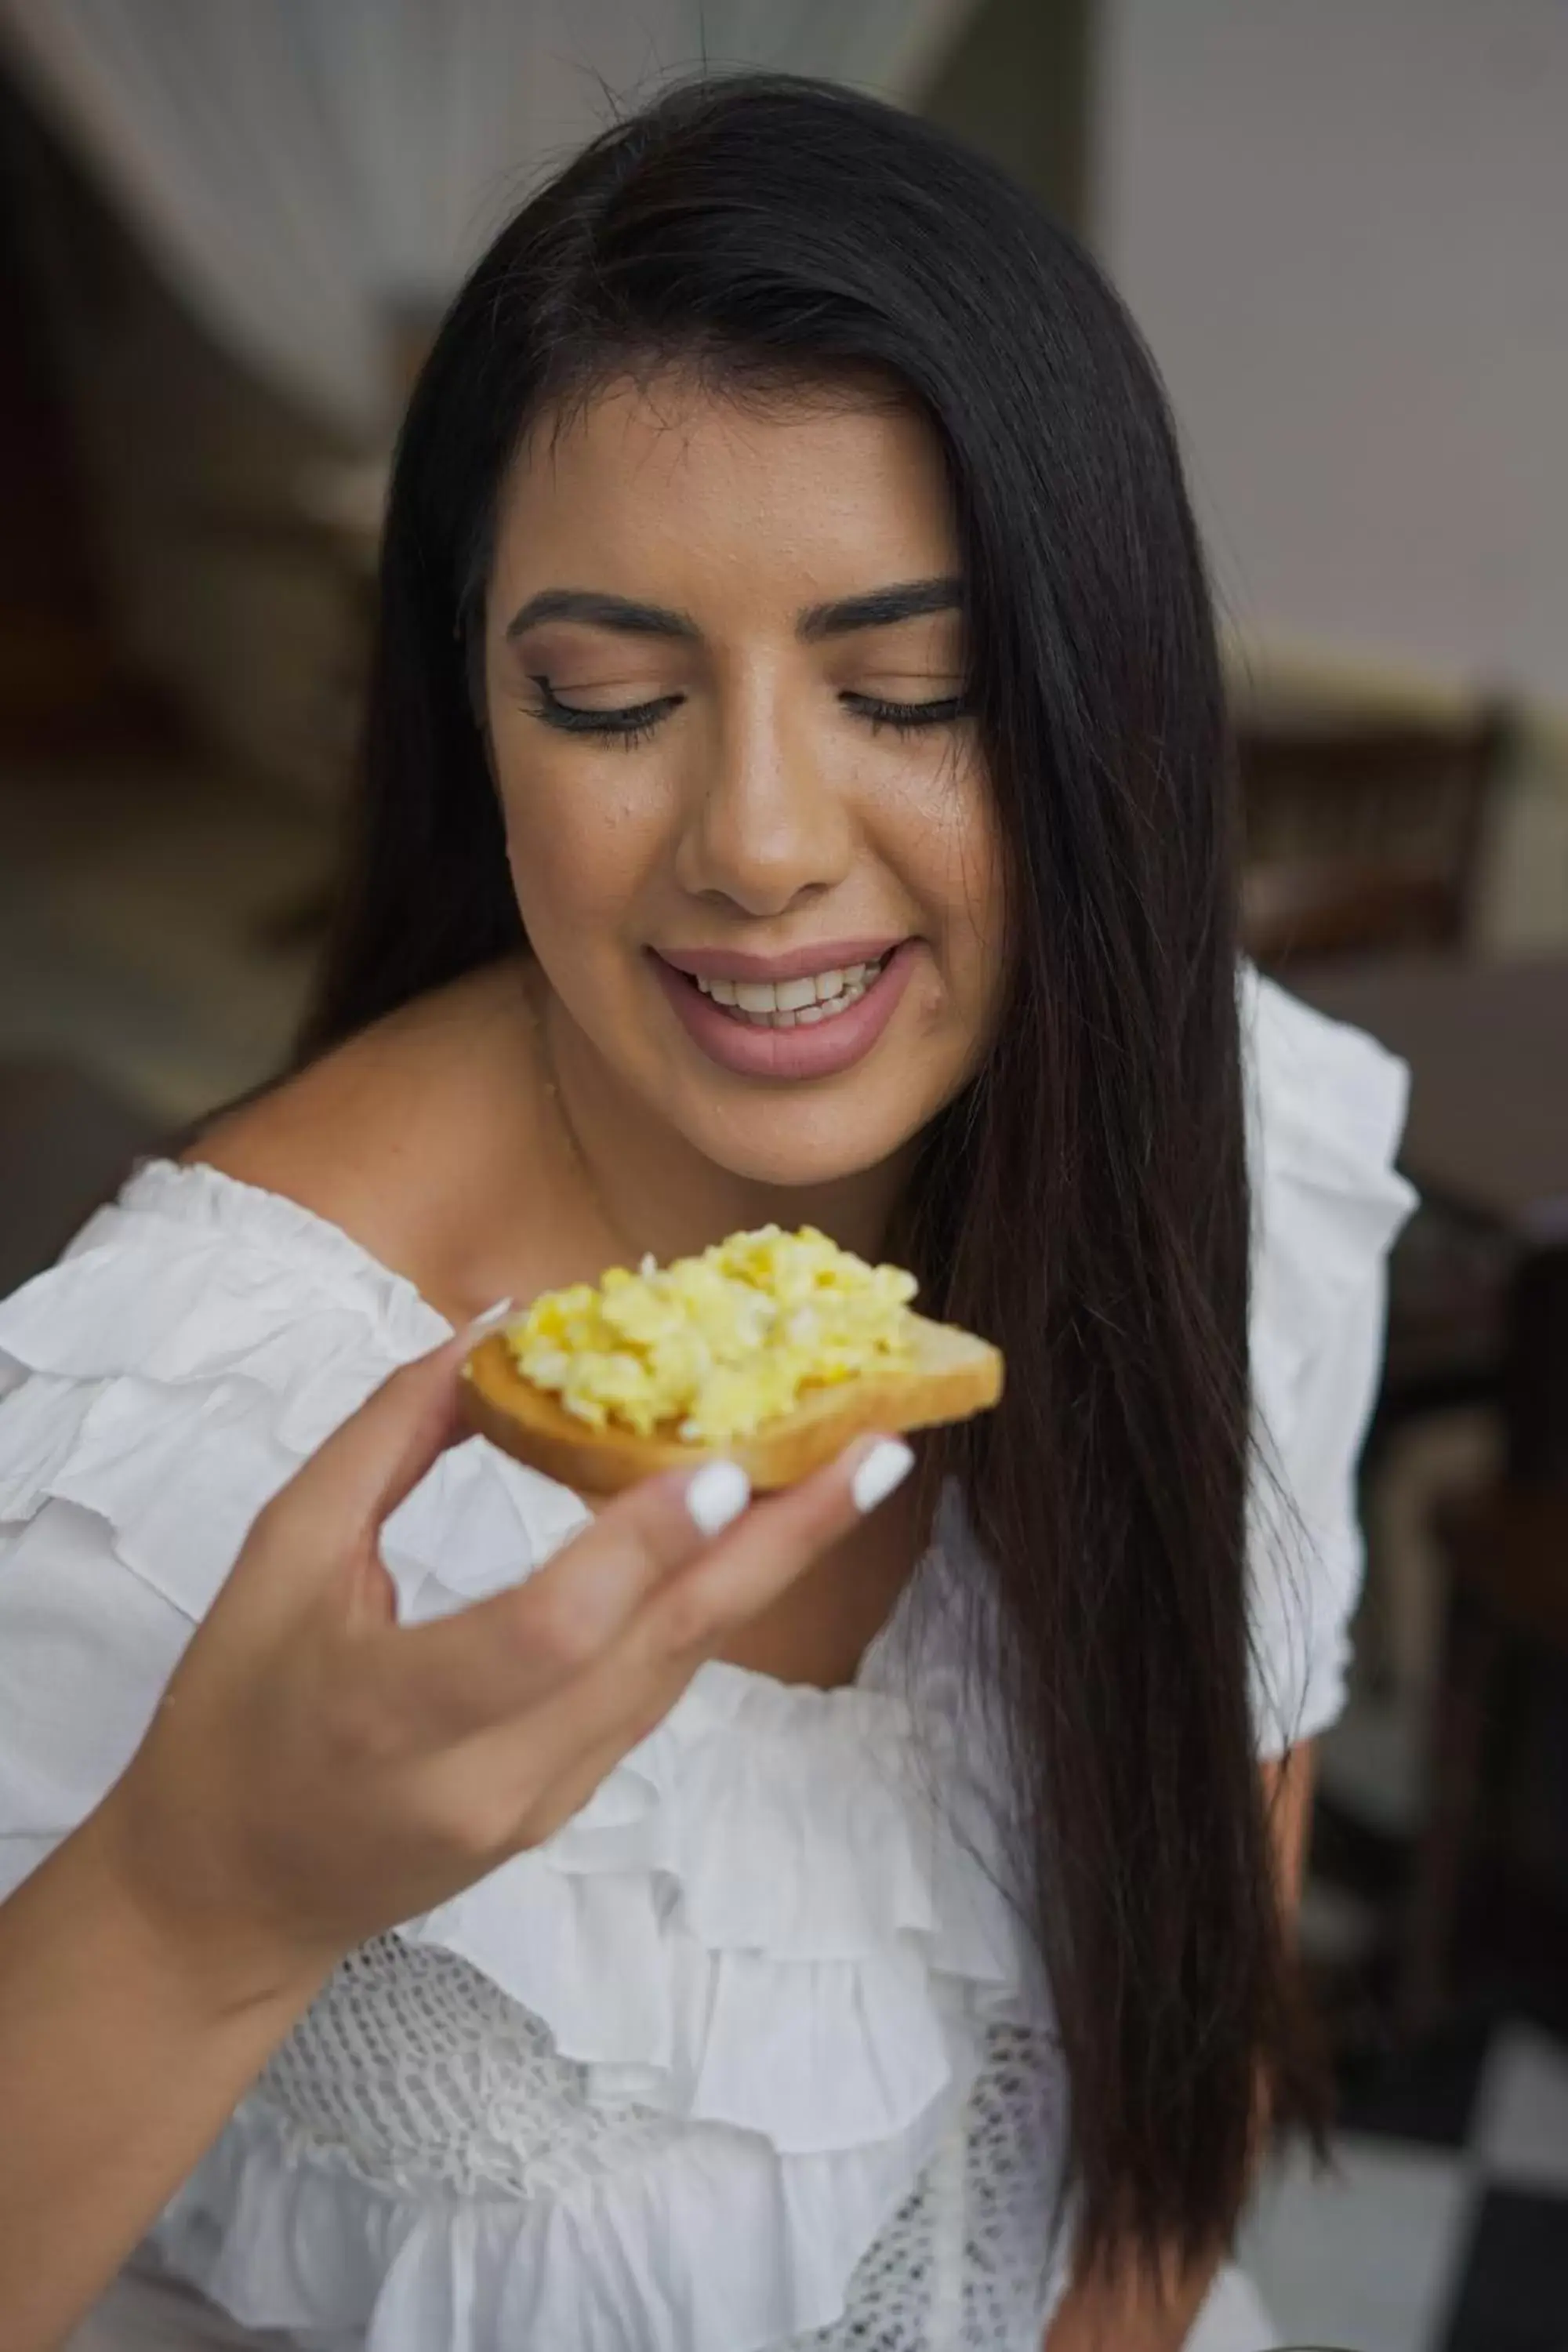
[[[971,5],[0,0],[0,35],[207,327],[374,440],[388,320],[440,303],[618,106],[698,66],[907,99]]]

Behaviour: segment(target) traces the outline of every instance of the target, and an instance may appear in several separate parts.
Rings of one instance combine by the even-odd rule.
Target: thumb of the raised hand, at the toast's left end
[[[470,1350],[512,1315],[501,1298],[428,1355],[400,1364],[275,1496],[273,1519],[308,1529],[313,1550],[374,1541],[425,1470],[463,1437],[458,1371]]]

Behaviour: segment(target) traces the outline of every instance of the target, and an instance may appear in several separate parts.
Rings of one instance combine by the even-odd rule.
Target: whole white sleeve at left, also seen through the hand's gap
[[[0,1900],[129,1764],[261,1505],[447,1329],[308,1211],[167,1162],[0,1301]],[[581,1517],[449,1449],[381,1536],[400,1616],[527,1573]]]

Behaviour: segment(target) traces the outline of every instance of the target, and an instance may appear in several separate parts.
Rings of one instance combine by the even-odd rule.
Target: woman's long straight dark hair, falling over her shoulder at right
[[[301,1056],[522,946],[465,675],[496,492],[541,407],[665,360],[870,369],[945,452],[1011,978],[900,1240],[929,1310],[1009,1364],[936,1461],[999,1604],[971,1665],[1081,2253],[1197,2258],[1237,2218],[1260,2084],[1309,2105],[1248,1717],[1229,762],[1154,367],[999,172],[846,89],[722,80],[609,129],[501,233],[397,449],[360,835]]]

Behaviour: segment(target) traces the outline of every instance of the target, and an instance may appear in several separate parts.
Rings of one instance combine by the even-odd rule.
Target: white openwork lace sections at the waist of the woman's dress
[[[331,1976],[254,2098],[294,2164],[371,2192],[571,2201],[691,2129],[635,2103],[592,2107],[585,2086],[477,1969],[383,1936]],[[966,2103],[858,2260],[842,2317],[780,2352],[1037,2352],[1063,2145],[1048,2037],[990,2027]]]

